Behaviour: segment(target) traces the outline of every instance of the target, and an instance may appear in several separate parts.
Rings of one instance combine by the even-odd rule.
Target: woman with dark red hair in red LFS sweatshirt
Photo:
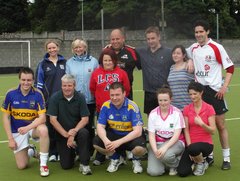
[[[127,73],[117,66],[116,53],[109,48],[102,51],[99,57],[99,68],[95,69],[90,79],[90,91],[95,96],[97,113],[102,104],[110,99],[109,85],[113,82],[121,82],[126,90],[126,96],[130,92],[130,83]]]

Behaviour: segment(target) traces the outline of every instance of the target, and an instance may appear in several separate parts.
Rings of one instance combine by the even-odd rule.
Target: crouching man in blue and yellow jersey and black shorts
[[[125,97],[121,83],[112,83],[109,92],[110,100],[103,104],[98,117],[93,146],[100,153],[110,156],[108,172],[118,170],[123,163],[120,155],[128,150],[134,155],[133,172],[142,173],[140,157],[146,153],[146,139],[140,110],[136,103]]]

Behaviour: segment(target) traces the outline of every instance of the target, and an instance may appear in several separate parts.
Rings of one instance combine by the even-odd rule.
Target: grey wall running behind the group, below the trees
[[[84,39],[87,40],[89,46],[89,52],[96,58],[102,50],[102,45],[105,46],[109,43],[109,34],[111,30],[104,30],[102,40],[102,32],[100,30],[88,30],[84,31]],[[31,67],[36,69],[38,62],[42,59],[45,54],[44,43],[47,39],[57,39],[59,40],[60,54],[66,59],[72,56],[71,52],[71,42],[74,38],[80,38],[82,35],[81,31],[61,31],[61,32],[44,32],[42,34],[34,34],[32,32],[24,33],[4,33],[0,35],[1,40],[30,40],[31,42]],[[144,30],[138,31],[127,31],[126,32],[126,43],[141,47],[146,46],[146,41],[144,37]],[[162,41],[162,44],[168,47],[173,47],[176,44],[182,44],[188,47],[193,42],[192,40],[183,39],[168,39]],[[225,47],[229,56],[235,64],[240,63],[240,40],[221,40],[220,43]],[[28,55],[27,55],[27,44],[26,43],[0,43],[0,67],[19,67],[28,66]],[[1,71],[0,69],[0,71]],[[0,72],[1,73],[1,72]]]

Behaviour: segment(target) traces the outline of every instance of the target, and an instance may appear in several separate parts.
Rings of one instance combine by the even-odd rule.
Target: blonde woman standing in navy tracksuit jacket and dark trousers
[[[45,43],[45,50],[47,53],[37,66],[35,86],[42,91],[47,107],[50,96],[61,89],[61,78],[66,70],[66,59],[58,54],[59,43],[56,40],[48,40]],[[57,161],[55,130],[50,124],[48,116],[46,124],[50,137],[49,161]]]

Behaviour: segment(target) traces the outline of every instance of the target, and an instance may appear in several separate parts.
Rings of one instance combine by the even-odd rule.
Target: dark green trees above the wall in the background
[[[15,32],[81,30],[125,27],[146,29],[160,26],[161,2],[164,2],[167,38],[193,38],[193,23],[205,19],[216,38],[216,15],[219,15],[220,37],[240,37],[240,0],[27,0],[0,1],[0,31]],[[83,4],[83,12],[82,5]]]

